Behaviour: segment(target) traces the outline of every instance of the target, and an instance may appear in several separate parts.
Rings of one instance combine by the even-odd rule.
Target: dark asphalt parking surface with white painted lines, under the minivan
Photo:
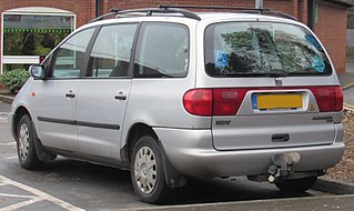
[[[16,143],[7,124],[6,115],[9,110],[9,104],[0,103],[0,211],[156,208],[138,200],[128,171],[62,157],[47,163],[39,171],[21,169]],[[244,178],[191,180],[186,188],[175,190],[168,205],[235,201],[246,203],[253,200],[271,201],[271,199],[323,195],[331,194],[314,190],[297,195],[284,194],[272,184],[251,182]],[[163,208],[171,209],[171,207]]]

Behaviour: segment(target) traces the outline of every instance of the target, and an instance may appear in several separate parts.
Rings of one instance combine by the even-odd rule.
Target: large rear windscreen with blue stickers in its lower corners
[[[328,76],[318,41],[304,28],[271,22],[226,22],[205,30],[205,71],[212,77]]]

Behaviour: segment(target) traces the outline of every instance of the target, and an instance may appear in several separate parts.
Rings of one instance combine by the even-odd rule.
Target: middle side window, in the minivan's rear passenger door
[[[93,46],[92,77],[127,77],[136,24],[107,26]]]

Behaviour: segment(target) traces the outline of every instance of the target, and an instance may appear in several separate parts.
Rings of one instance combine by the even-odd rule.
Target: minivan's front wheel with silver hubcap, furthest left
[[[17,138],[18,157],[21,167],[28,170],[40,168],[43,162],[38,159],[34,148],[37,134],[33,122],[27,114],[22,115],[19,121]]]

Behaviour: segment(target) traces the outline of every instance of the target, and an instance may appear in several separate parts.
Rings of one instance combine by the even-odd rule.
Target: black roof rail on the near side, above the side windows
[[[145,14],[140,14],[145,13]],[[166,7],[158,7],[158,8],[145,8],[145,9],[131,9],[131,10],[120,10],[112,8],[109,13],[102,14],[90,22],[95,22],[99,20],[102,20],[110,16],[152,16],[152,13],[181,13],[185,18],[194,19],[194,20],[201,20],[201,18],[191,11],[183,10],[180,8],[166,8]]]

